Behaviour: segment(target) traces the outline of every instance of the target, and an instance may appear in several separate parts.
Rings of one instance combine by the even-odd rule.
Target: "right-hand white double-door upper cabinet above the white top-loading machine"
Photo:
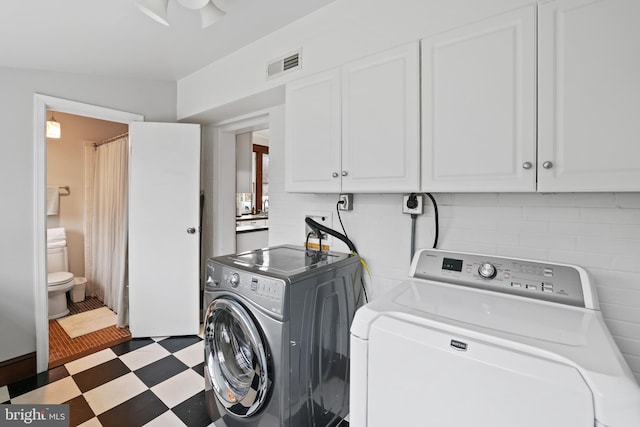
[[[640,191],[639,17],[547,1],[423,40],[422,190]]]

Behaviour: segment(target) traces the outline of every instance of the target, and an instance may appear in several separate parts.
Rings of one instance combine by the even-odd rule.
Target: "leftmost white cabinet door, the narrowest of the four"
[[[340,192],[340,70],[286,87],[285,190]]]

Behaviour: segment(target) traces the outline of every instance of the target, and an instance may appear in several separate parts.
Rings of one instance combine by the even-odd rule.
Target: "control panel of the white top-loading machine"
[[[585,307],[577,268],[536,261],[423,250],[412,277]]]

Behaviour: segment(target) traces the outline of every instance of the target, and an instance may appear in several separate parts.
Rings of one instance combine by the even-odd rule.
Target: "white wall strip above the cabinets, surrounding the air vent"
[[[336,0],[179,80],[178,118],[216,110],[292,79],[531,3]],[[300,70],[266,79],[267,63],[300,48]]]

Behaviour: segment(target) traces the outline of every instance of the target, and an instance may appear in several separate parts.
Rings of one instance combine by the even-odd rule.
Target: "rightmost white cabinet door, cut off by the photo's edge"
[[[640,2],[540,6],[540,191],[640,190]]]

